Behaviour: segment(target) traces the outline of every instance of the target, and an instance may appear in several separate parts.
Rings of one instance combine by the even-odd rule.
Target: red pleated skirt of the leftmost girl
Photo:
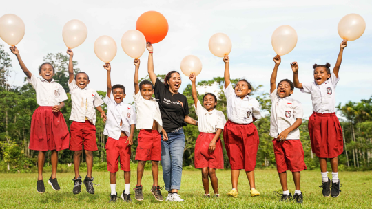
[[[52,107],[40,106],[32,115],[30,150],[61,151],[68,149],[70,133],[61,111],[55,113]]]

